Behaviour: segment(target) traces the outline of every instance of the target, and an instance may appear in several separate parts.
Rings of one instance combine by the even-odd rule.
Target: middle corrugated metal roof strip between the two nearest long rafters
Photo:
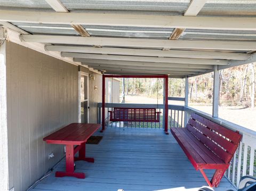
[[[92,36],[137,37],[167,39],[172,34],[171,28],[146,28],[122,26],[83,26]]]

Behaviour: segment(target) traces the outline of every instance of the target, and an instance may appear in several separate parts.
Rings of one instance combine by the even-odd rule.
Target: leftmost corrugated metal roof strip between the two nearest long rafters
[[[30,34],[79,35],[77,31],[68,24],[39,24],[20,22],[12,22],[12,24],[29,32]]]

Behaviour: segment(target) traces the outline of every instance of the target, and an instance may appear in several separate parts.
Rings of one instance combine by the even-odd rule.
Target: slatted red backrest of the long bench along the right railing
[[[191,134],[225,163],[230,162],[242,138],[239,132],[223,127],[195,113],[191,114],[186,127]]]

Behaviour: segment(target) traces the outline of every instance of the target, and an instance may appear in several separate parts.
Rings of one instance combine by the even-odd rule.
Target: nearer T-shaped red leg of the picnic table
[[[83,172],[74,172],[74,145],[66,145],[66,172],[57,171],[55,177],[85,178]]]

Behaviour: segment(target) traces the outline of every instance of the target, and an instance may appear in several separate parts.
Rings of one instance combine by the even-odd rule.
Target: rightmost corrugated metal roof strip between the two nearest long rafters
[[[248,30],[199,30],[186,29],[180,39],[206,39],[206,40],[255,40],[256,31]]]

